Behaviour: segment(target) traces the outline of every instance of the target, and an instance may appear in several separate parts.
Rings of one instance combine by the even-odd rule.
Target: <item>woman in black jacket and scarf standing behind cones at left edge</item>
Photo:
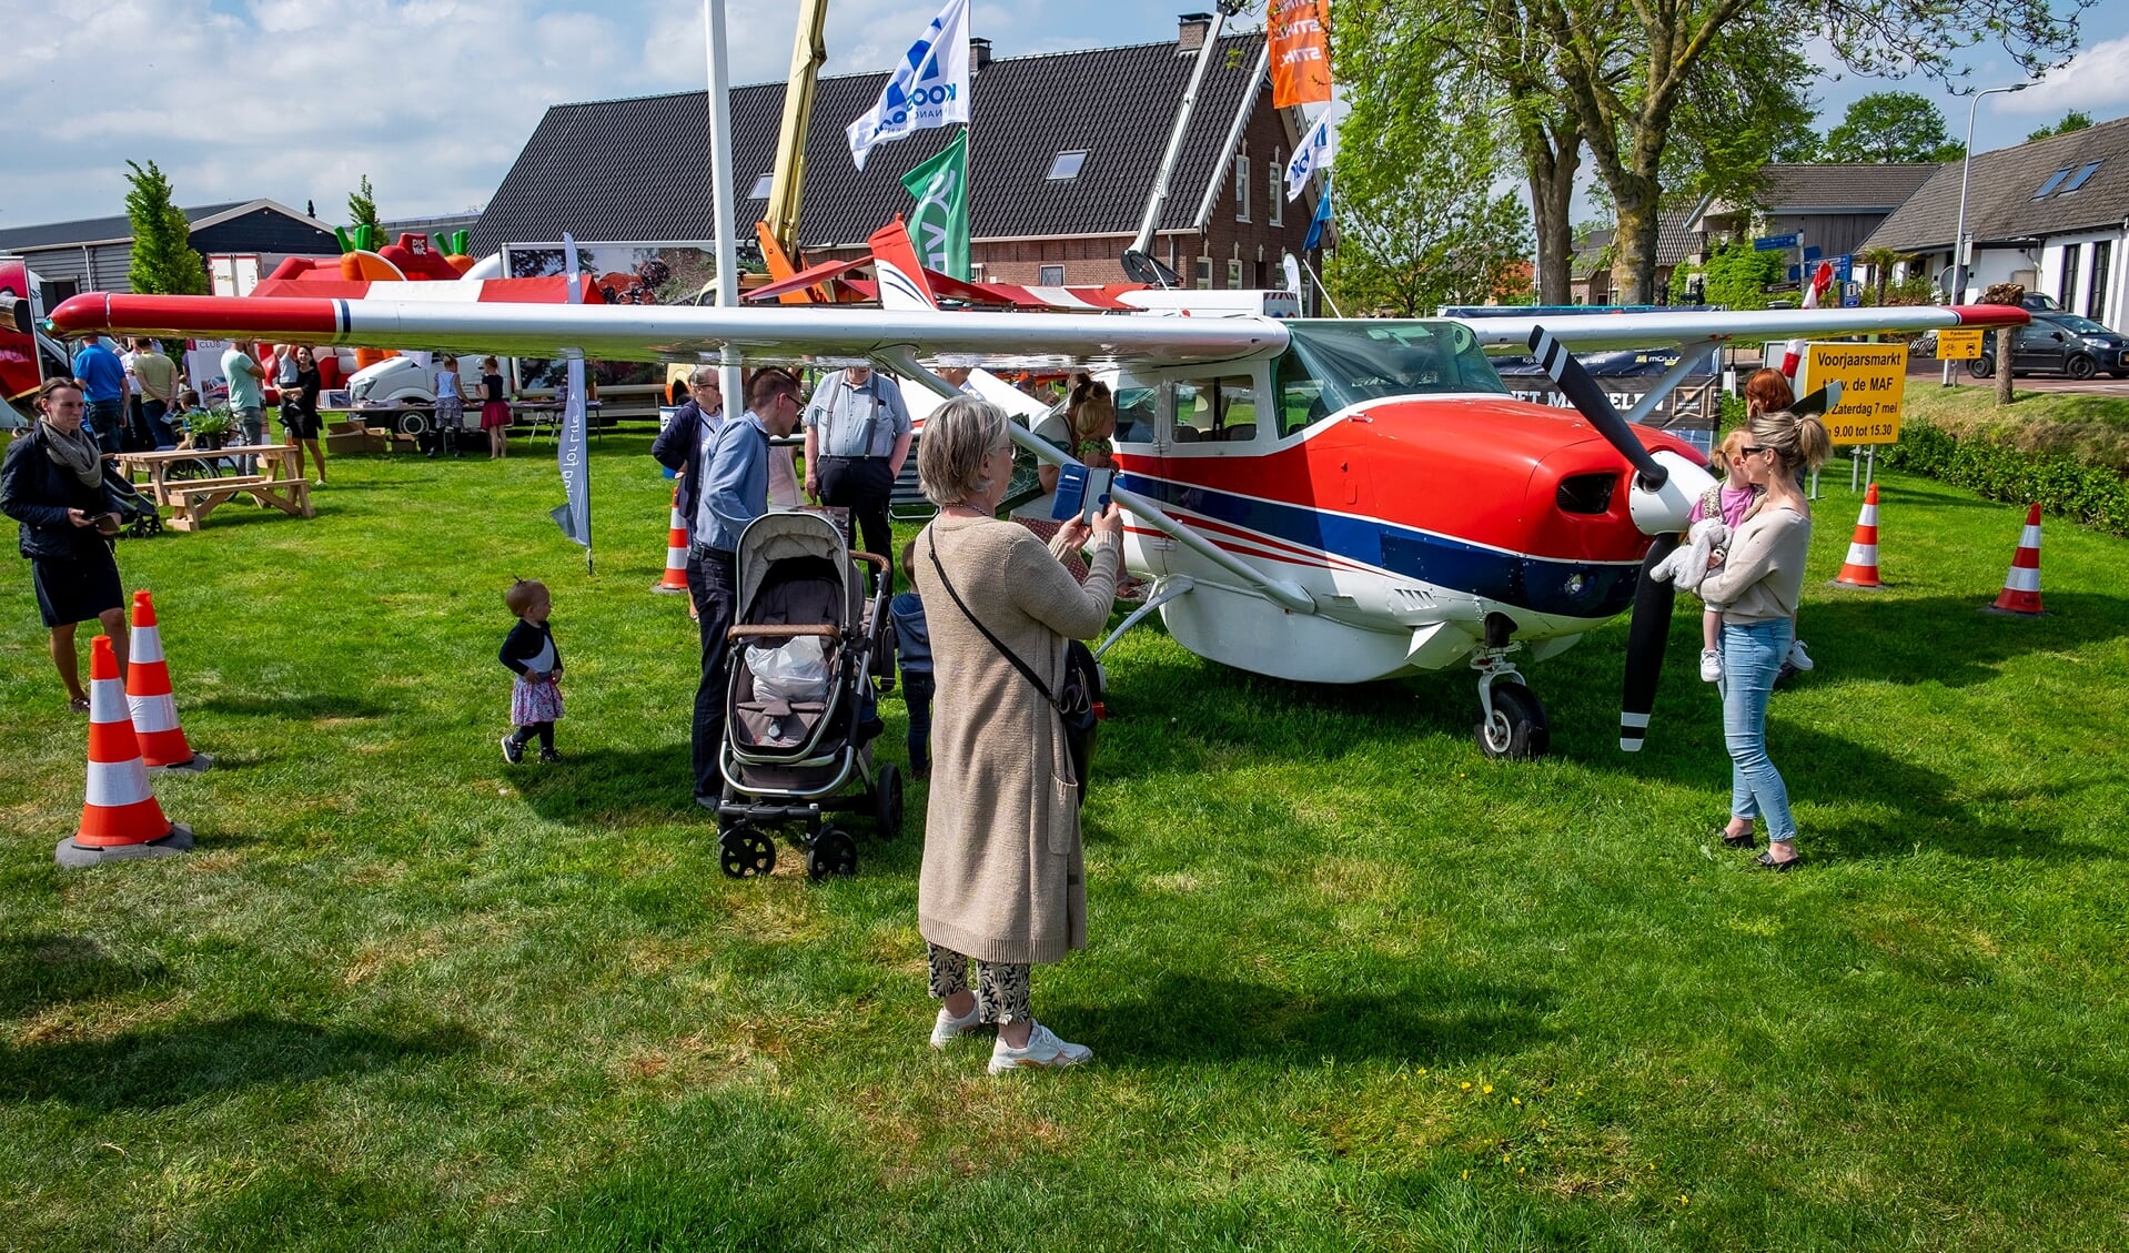
[[[38,421],[0,462],[0,513],[21,523],[21,555],[30,559],[36,608],[51,628],[51,664],[66,698],[87,713],[75,623],[100,619],[126,672],[126,594],[111,536],[119,530],[117,500],[104,485],[104,457],[81,430],[81,387],[47,379],[36,391]]]

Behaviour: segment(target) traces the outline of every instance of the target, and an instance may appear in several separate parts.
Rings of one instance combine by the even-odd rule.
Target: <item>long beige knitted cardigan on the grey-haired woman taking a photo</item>
[[[1056,691],[1064,640],[1109,621],[1120,542],[1092,545],[1079,585],[1011,521],[941,515],[918,536],[915,583],[939,691],[918,932],[977,962],[1058,962],[1086,947],[1071,755],[1050,702],[939,585],[935,545],[969,613]]]

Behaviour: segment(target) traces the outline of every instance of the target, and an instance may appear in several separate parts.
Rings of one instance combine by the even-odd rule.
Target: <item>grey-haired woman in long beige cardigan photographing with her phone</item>
[[[1086,947],[1086,868],[1064,725],[1005,653],[1064,683],[1064,645],[1109,621],[1124,523],[1111,504],[1043,545],[996,517],[1013,472],[1005,411],[958,396],[924,423],[918,481],[939,506],[915,542],[933,676],[950,700],[933,721],[930,806],[918,930],[939,1008],[930,1042],[999,1023],[990,1072],[1075,1066],[1094,1055],[1028,1010],[1028,968]],[[1060,557],[1090,549],[1086,583]],[[988,634],[986,634],[988,632]],[[969,962],[979,983],[969,987]]]

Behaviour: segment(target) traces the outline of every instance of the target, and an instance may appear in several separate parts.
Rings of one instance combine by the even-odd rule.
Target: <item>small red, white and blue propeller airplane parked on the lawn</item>
[[[1541,662],[1627,613],[1620,749],[1646,738],[1671,583],[1644,579],[1712,483],[1693,445],[1641,425],[1729,340],[2018,325],[2023,308],[1814,308],[1601,317],[1292,319],[1288,291],[1135,291],[1130,313],[973,313],[937,298],[913,251],[875,255],[898,308],[700,308],[368,298],[75,296],[62,334],[160,334],[458,353],[745,364],[1107,370],[1111,489],[1126,566],[1196,655],[1309,683],[1469,666],[1490,757],[1546,751]],[[811,281],[820,281],[813,277]],[[1207,304],[1218,304],[1207,308]],[[1676,347],[1680,364],[1620,415],[1571,353]],[[1573,411],[1509,396],[1486,349],[1535,351]],[[1816,404],[1827,404],[1820,398]],[[1067,455],[1024,428],[1041,460]],[[1113,642],[1111,634],[1109,642]]]

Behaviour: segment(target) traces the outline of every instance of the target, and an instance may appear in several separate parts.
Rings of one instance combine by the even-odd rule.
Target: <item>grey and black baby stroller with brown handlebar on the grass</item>
[[[877,566],[884,557],[856,553]],[[847,540],[822,513],[766,513],[739,536],[739,613],[717,766],[717,862],[732,879],[777,864],[764,828],[805,823],[811,879],[852,874],[858,845],[835,813],[873,819],[881,838],[903,825],[903,776],[875,764],[881,732],[873,674],[888,621],[888,581],[871,600]]]

